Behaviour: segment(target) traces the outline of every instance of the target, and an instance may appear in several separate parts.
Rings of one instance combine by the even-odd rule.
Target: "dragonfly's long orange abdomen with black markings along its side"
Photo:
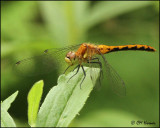
[[[148,45],[122,45],[122,46],[107,46],[107,45],[98,45],[98,48],[102,54],[115,52],[115,51],[126,51],[126,50],[141,50],[141,51],[156,51],[153,47]]]

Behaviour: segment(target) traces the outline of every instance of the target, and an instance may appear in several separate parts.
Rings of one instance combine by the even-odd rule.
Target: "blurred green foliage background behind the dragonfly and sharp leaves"
[[[11,65],[45,49],[83,42],[106,45],[146,44],[155,53],[115,52],[105,55],[126,83],[118,97],[106,79],[94,89],[70,126],[159,125],[159,3],[151,1],[1,2],[1,100],[19,90],[9,110],[17,126],[27,125],[27,94],[40,77],[20,77]],[[43,102],[56,85],[58,69],[43,76]],[[58,107],[58,106],[57,106]],[[156,125],[132,125],[131,121]]]

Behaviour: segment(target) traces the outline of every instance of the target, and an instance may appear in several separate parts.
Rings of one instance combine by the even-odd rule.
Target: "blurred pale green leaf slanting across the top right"
[[[91,28],[107,19],[151,5],[150,1],[109,1],[96,4],[86,19],[86,28]]]

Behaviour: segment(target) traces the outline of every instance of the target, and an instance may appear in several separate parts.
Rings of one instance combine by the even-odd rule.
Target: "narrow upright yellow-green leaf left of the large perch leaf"
[[[43,81],[36,82],[28,94],[28,123],[35,126],[39,103],[43,93]]]

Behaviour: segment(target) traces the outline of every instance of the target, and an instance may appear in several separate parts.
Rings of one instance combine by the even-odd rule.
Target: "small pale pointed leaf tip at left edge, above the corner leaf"
[[[11,106],[11,103],[15,100],[16,96],[18,94],[18,91],[16,91],[15,93],[13,93],[11,96],[9,96],[7,99],[5,99],[3,102],[2,102],[2,106],[3,109],[5,109],[6,111],[8,111],[8,109],[10,108]]]

